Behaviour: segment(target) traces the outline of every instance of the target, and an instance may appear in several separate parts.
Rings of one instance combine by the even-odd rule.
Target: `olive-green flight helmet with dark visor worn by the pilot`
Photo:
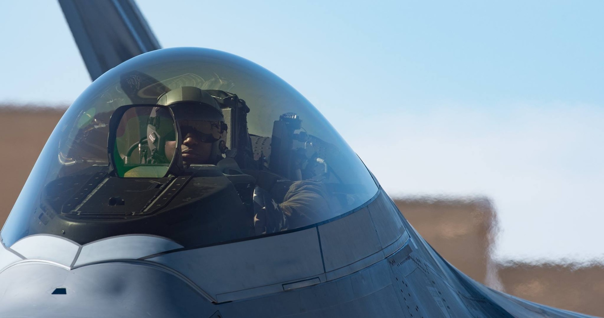
[[[157,103],[172,109],[182,141],[190,134],[197,142],[211,144],[210,159],[205,164],[216,164],[222,159],[228,127],[214,97],[198,87],[182,86],[162,94]]]

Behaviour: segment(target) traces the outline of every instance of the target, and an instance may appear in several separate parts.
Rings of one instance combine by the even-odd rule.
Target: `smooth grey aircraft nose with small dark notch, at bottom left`
[[[202,294],[169,270],[109,262],[68,270],[21,262],[0,273],[0,317],[210,317]]]

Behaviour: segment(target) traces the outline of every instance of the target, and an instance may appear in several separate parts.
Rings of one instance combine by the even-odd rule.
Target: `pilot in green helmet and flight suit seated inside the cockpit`
[[[158,104],[171,106],[175,114],[181,129],[180,147],[185,166],[216,165],[225,160],[224,141],[228,127],[222,109],[208,92],[198,87],[184,86],[161,95]],[[175,148],[176,141],[166,142],[167,157],[173,157]],[[232,159],[230,161],[234,163]],[[249,174],[256,174],[255,177],[257,173],[258,171],[249,171]],[[278,178],[275,174],[272,175]],[[292,183],[282,203],[276,203],[269,190],[259,185],[255,185],[254,188],[252,200],[256,235],[286,231],[316,223],[320,219],[319,212],[330,209],[325,199],[327,195],[324,186],[318,182],[301,180]]]

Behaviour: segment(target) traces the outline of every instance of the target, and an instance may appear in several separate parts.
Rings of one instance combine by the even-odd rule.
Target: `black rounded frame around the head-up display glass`
[[[172,116],[172,121],[174,122],[175,132],[176,132],[177,147],[175,148],[174,156],[172,157],[172,162],[170,162],[168,170],[166,171],[165,175],[162,177],[167,177],[170,174],[172,174],[174,176],[178,176],[183,170],[181,147],[178,147],[178,145],[182,144],[181,129],[178,126],[178,124],[176,123],[176,117],[174,115],[174,112],[172,112],[172,109],[169,106],[163,106],[163,105],[157,105],[157,104],[124,105],[124,106],[118,107],[115,110],[115,112],[111,114],[111,118],[109,119],[109,136],[107,139],[107,154],[109,157],[108,158],[109,167],[111,169],[111,171],[109,171],[109,175],[123,177],[123,176],[119,176],[119,174],[117,173],[117,165],[114,160],[115,140],[117,137],[117,130],[118,130],[118,127],[120,126],[120,121],[121,121],[122,117],[129,109],[132,109],[135,107],[156,107],[158,109],[165,109],[170,113],[170,116]]]

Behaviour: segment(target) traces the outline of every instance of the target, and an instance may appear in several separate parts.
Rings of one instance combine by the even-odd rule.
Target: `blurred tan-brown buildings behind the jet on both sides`
[[[0,104],[0,222],[4,223],[64,107]],[[540,304],[604,316],[604,268],[599,265],[497,264],[497,234],[488,198],[399,198],[400,211],[445,259],[489,287]]]

